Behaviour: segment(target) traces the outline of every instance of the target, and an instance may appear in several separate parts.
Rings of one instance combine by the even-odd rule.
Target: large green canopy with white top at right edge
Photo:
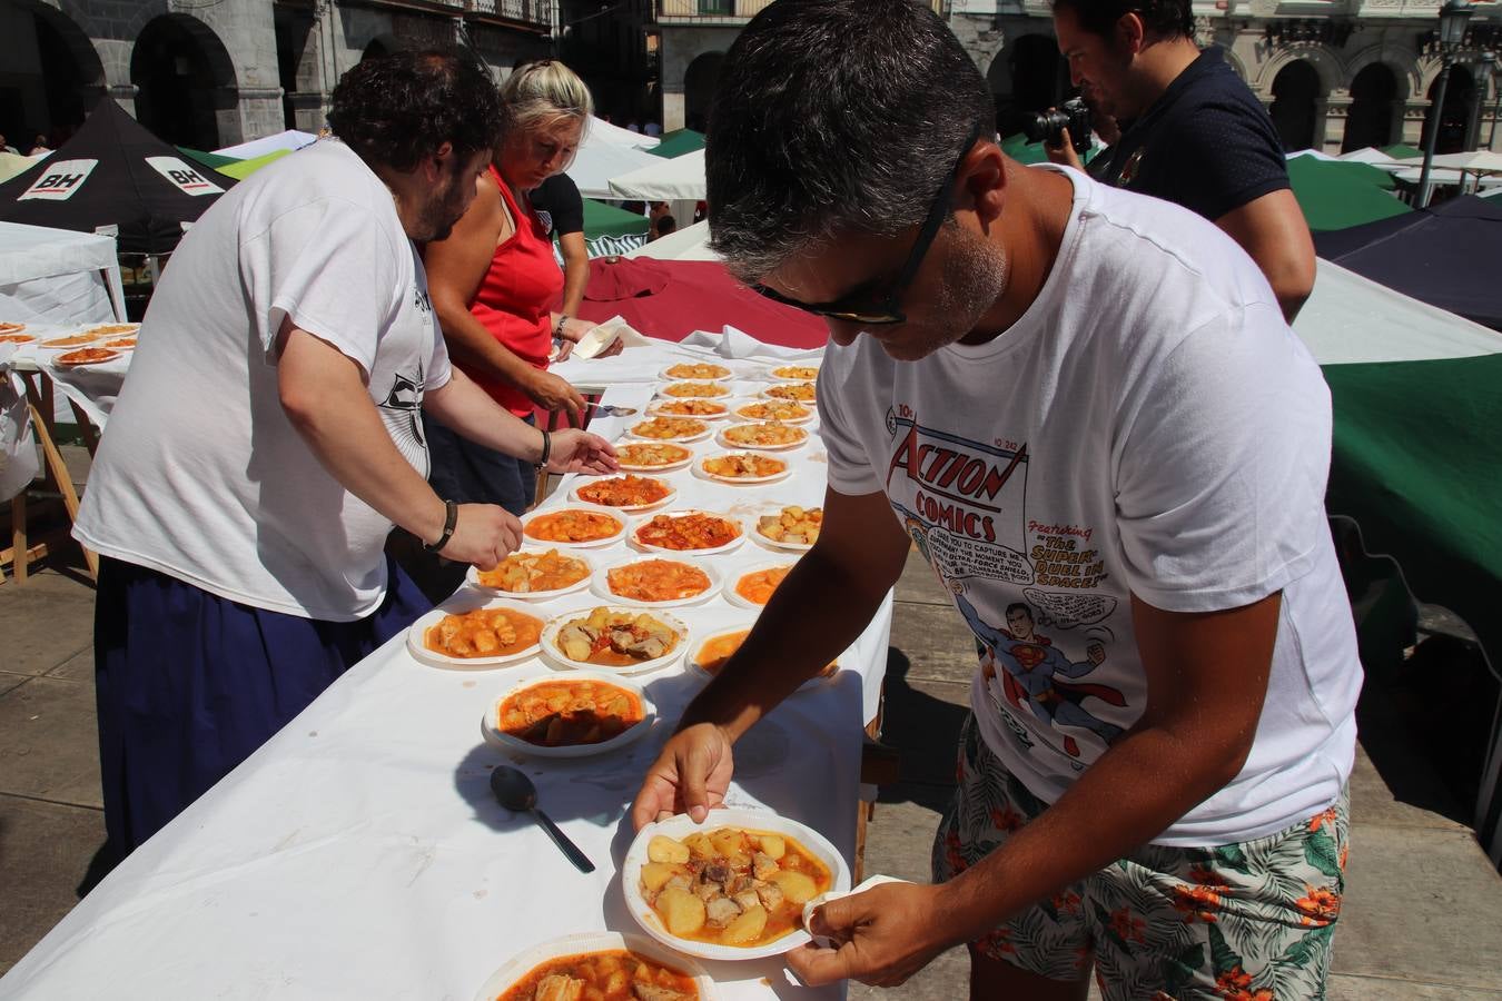
[[[1475,630],[1482,657],[1496,665],[1502,335],[1325,260],[1293,330],[1331,387],[1326,510],[1353,522],[1361,548],[1395,564],[1413,597],[1458,614]],[[1392,605],[1383,605],[1395,620]],[[1362,633],[1368,671],[1401,657],[1401,651],[1383,656]],[[1451,690],[1445,678],[1434,678],[1436,699]],[[1475,816],[1476,836],[1494,863],[1502,863],[1499,726],[1502,716],[1491,722]]]

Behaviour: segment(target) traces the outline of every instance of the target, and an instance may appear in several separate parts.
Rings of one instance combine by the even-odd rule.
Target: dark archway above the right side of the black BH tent
[[[234,107],[234,66],[219,38],[197,18],[152,18],[131,53],[135,119],[164,143],[212,150],[218,113]]]

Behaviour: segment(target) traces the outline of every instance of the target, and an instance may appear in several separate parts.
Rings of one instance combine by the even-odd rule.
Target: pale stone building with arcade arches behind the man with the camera
[[[656,0],[664,126],[701,128],[719,62],[768,0]],[[1197,41],[1226,59],[1292,149],[1419,146],[1440,71],[1442,0],[1196,0]],[[1069,93],[1048,0],[934,0],[996,95],[1003,131]],[[1493,147],[1502,12],[1478,5],[1451,72],[1440,152]]]

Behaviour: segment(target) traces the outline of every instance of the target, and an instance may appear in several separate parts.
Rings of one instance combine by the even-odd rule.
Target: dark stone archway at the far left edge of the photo
[[[36,137],[57,149],[104,93],[104,66],[89,36],[57,8],[11,0],[0,8],[9,36],[0,69],[0,132],[23,153]]]

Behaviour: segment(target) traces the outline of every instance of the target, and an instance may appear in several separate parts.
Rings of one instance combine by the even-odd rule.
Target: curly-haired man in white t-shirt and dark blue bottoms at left
[[[425,482],[419,411],[556,470],[614,468],[449,366],[413,240],[475,197],[500,128],[458,50],[366,60],[324,140],[183,236],[89,474],[105,827],[125,855],[354,662],[428,609],[383,555],[397,524],[493,567],[521,531]]]

